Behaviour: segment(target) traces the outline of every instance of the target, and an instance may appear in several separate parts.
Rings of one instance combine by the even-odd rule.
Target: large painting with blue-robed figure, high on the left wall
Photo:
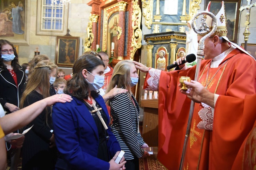
[[[14,5],[12,3],[14,3]],[[17,10],[13,10],[13,8],[16,8]],[[8,17],[8,20],[3,20],[4,22],[0,24],[0,27],[2,27],[3,29],[0,38],[6,39],[11,43],[17,45],[28,45],[30,34],[28,26],[28,24],[30,23],[30,1],[0,1],[0,12],[4,12],[6,10],[9,10],[9,13],[5,13]],[[14,14],[14,16],[19,15],[22,19],[14,16],[12,17],[12,14]]]

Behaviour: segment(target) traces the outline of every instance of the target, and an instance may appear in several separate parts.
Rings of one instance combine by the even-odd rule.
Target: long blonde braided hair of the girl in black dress
[[[40,61],[31,73],[28,79],[28,84],[25,91],[23,92],[22,98],[20,99],[20,107],[23,108],[27,96],[37,88],[40,90],[43,98],[50,96],[49,88],[49,74],[55,71],[58,67],[48,60]]]

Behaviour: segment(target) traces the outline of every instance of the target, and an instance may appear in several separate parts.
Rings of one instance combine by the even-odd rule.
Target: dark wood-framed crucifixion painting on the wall
[[[55,63],[60,67],[73,67],[78,58],[79,37],[57,36],[55,49]]]

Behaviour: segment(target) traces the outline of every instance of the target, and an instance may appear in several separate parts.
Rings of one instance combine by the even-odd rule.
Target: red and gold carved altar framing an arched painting
[[[112,50],[112,66],[120,60],[133,60],[134,55],[138,58],[136,51],[141,48],[142,41],[138,0],[91,0],[88,5],[92,6],[91,15],[98,16],[97,22],[91,21],[91,34],[87,33],[88,49],[94,50],[99,45],[109,57]],[[94,41],[90,41],[91,35]]]

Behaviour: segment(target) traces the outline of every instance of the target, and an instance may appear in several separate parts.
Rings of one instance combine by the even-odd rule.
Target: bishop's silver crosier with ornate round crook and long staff
[[[201,17],[201,24],[200,24],[199,28],[197,29],[196,24],[195,24],[195,20],[200,15],[203,15],[203,17]],[[213,28],[210,32],[209,32],[209,26],[207,26],[207,24],[205,22],[207,16],[210,16],[213,20]],[[198,45],[197,66],[196,66],[196,74],[195,74],[195,81],[198,81],[198,75],[199,75],[199,72],[200,72],[201,61],[202,61],[202,57],[204,55],[204,53],[203,53],[204,40],[215,33],[215,31],[217,29],[217,19],[216,19],[215,15],[213,13],[202,11],[200,13],[197,13],[196,16],[193,18],[191,27],[193,28],[195,33],[197,33],[199,35],[203,35],[203,34],[209,32],[208,34],[206,34],[205,36],[203,36],[200,39],[199,45]],[[191,120],[192,120],[193,112],[194,112],[194,106],[195,106],[195,102],[193,100],[191,100],[188,123],[187,123],[187,131],[186,131],[186,135],[185,135],[185,141],[184,141],[182,156],[181,156],[180,170],[183,169],[184,158],[185,158],[185,154],[186,154],[186,150],[187,150],[188,137],[189,137],[189,133],[190,133]]]

